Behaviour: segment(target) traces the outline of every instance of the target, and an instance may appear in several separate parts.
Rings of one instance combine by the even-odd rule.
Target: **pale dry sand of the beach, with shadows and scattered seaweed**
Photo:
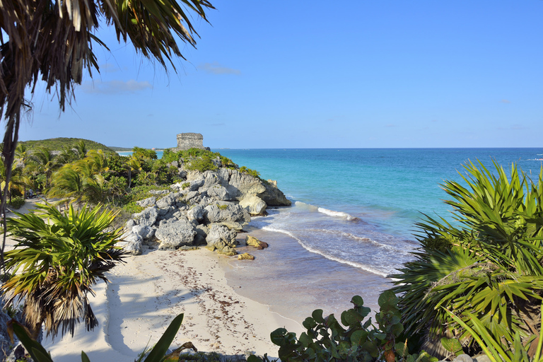
[[[199,351],[276,356],[270,332],[286,327],[299,334],[302,327],[235,293],[221,267],[225,259],[205,249],[127,257],[108,274],[110,284],[94,288],[91,305],[100,325],[92,332],[79,325],[73,338],[46,339],[44,346],[55,362],[79,361],[82,350],[91,361],[133,361],[184,313],[173,348],[192,341]]]

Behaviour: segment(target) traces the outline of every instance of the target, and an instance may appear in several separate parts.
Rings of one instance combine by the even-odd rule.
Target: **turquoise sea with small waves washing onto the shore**
[[[255,262],[228,262],[239,293],[301,322],[316,308],[339,313],[355,294],[376,307],[386,276],[411,259],[421,213],[450,220],[440,189],[462,165],[511,163],[536,178],[543,148],[221,149],[276,180],[293,206],[269,209],[247,231],[269,243]]]

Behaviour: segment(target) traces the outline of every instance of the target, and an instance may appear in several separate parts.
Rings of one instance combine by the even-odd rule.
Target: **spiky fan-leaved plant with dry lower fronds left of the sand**
[[[98,279],[107,282],[105,272],[121,261],[115,247],[120,230],[107,230],[115,218],[102,206],[70,206],[62,214],[49,204],[36,204],[28,214],[8,218],[7,229],[17,241],[5,253],[11,276],[2,290],[7,305],[23,303],[26,323],[35,338],[42,325],[55,337],[74,334],[76,323],[84,320],[88,329],[98,325],[88,293]]]

